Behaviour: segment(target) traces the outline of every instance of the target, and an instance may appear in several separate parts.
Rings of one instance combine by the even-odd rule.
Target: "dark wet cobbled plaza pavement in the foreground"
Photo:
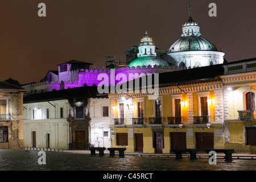
[[[175,154],[118,153],[110,157],[90,155],[90,151],[44,151],[46,164],[39,164],[41,155],[36,150],[0,150],[2,171],[256,171],[256,155],[233,154],[232,162],[225,162],[224,155],[217,155],[217,164],[208,163],[207,154],[189,155],[175,159]],[[252,159],[253,158],[253,159]]]

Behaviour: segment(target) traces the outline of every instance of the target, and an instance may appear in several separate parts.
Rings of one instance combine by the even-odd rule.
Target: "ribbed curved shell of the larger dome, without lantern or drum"
[[[183,36],[168,49],[168,53],[179,51],[217,51],[217,47],[201,36]]]

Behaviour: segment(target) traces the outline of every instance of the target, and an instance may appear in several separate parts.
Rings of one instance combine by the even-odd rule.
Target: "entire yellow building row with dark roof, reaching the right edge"
[[[153,100],[150,89],[110,94],[113,147],[146,153],[173,148],[255,153],[255,65],[254,58],[160,73],[154,85],[159,96]]]

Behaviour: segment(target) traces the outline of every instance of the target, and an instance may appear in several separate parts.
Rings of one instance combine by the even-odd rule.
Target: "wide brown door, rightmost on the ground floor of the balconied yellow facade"
[[[198,151],[214,148],[213,133],[196,133],[196,147]]]

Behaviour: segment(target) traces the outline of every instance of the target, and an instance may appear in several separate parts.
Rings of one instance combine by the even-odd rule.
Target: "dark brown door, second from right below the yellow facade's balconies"
[[[185,132],[172,132],[171,133],[171,147],[174,148],[187,148],[186,133]]]

